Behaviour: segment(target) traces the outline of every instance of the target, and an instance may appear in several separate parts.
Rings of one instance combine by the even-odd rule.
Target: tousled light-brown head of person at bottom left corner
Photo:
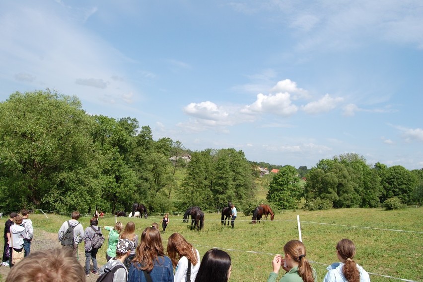
[[[58,267],[63,267],[62,269]],[[32,252],[14,266],[6,282],[85,282],[82,266],[72,249],[56,248]]]

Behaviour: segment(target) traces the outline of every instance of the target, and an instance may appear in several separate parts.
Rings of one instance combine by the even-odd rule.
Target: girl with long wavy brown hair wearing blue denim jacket
[[[131,263],[128,282],[146,282],[150,276],[154,282],[173,282],[173,266],[166,257],[161,243],[160,231],[147,227],[142,231],[141,243]]]

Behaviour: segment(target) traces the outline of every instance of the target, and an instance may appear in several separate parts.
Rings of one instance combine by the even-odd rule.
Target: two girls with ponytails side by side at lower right
[[[370,282],[368,273],[353,260],[355,246],[350,239],[342,239],[336,245],[339,263],[327,267],[323,282]],[[305,246],[301,241],[291,240],[283,246],[281,255],[273,258],[273,272],[268,282],[276,282],[280,269],[286,271],[280,282],[317,282],[316,271],[306,258]]]

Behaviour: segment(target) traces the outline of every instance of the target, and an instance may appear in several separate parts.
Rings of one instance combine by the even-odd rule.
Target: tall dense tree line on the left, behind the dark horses
[[[186,152],[188,164],[178,158]],[[177,168],[184,166],[181,177]],[[0,103],[3,210],[114,212],[134,202],[149,212],[220,208],[251,197],[254,188],[242,151],[190,152],[170,138],[155,141],[135,118],[87,114],[76,96],[49,89],[16,92]]]

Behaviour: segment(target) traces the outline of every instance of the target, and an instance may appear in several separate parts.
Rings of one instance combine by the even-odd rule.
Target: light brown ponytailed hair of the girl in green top
[[[305,246],[301,241],[291,240],[283,246],[283,252],[298,263],[298,275],[304,282],[314,282],[313,270],[305,258]]]

